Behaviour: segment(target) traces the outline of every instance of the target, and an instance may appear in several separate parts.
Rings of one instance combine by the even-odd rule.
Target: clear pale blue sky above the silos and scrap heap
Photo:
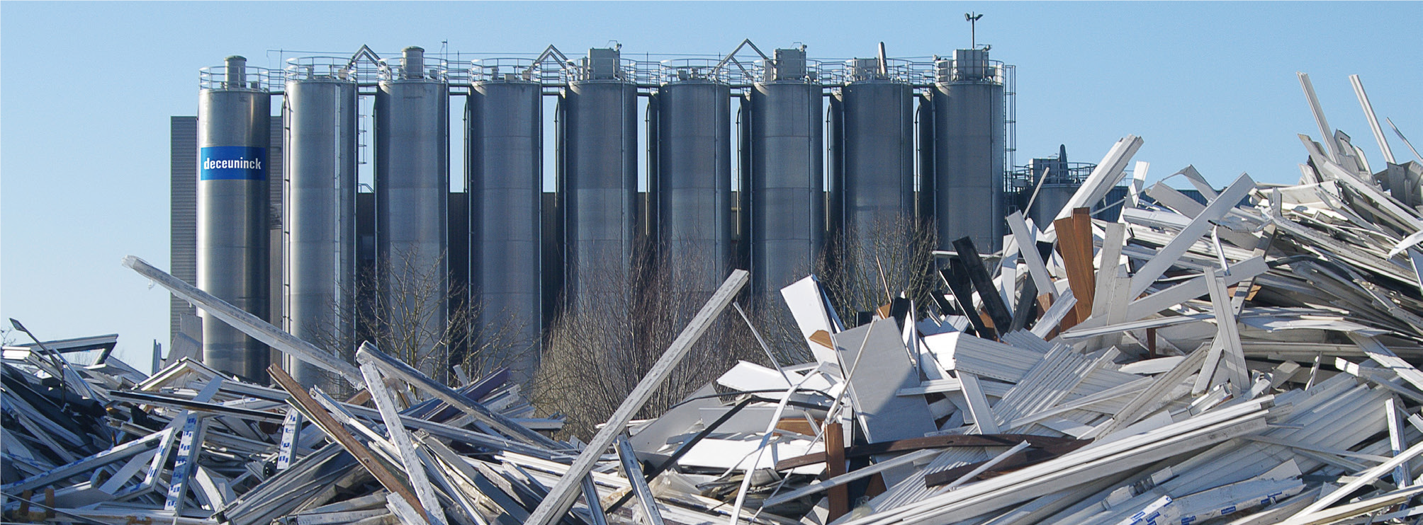
[[[1296,71],[1373,166],[1383,159],[1349,74],[1423,146],[1419,1],[9,3],[0,318],[46,339],[117,332],[138,366],[154,339],[168,346],[168,294],[118,262],[168,267],[168,118],[196,114],[198,70],[226,55],[280,67],[277,50],[386,55],[441,41],[700,55],[741,38],[767,52],[805,44],[811,58],[874,57],[881,41],[889,57],[952,55],[969,44],[966,11],[985,13],[978,41],[992,57],[1017,65],[1019,163],[1059,143],[1097,162],[1130,133],[1153,180],[1195,165],[1215,184],[1241,172],[1289,183],[1305,159],[1295,135],[1319,135]]]

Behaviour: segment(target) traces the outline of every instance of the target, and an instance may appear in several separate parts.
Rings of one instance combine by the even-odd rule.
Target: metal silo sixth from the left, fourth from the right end
[[[731,88],[714,65],[665,64],[656,94],[657,243],[673,282],[700,297],[731,262]]]

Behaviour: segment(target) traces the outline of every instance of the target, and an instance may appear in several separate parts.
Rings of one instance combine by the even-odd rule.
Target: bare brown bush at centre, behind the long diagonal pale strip
[[[588,438],[595,426],[626,399],[667,345],[710,298],[712,291],[686,275],[696,261],[642,257],[629,277],[583,275],[581,285],[618,291],[592,294],[596,304],[571,305],[549,326],[532,400],[544,413],[564,413],[566,434]],[[766,362],[746,324],[723,314],[643,406],[656,417],[739,359]]]

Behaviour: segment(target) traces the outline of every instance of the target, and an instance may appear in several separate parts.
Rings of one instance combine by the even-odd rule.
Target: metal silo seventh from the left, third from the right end
[[[804,48],[776,50],[764,74],[751,85],[748,115],[751,289],[758,295],[804,278],[825,240],[821,84]]]

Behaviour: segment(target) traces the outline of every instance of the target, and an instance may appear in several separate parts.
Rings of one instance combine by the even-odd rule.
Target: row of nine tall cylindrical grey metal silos
[[[998,244],[1003,87],[982,50],[942,61],[932,85],[891,71],[884,58],[855,60],[848,75],[827,85],[828,77],[805,58],[804,48],[777,50],[756,70],[757,77],[737,82],[717,68],[676,64],[665,65],[649,82],[635,78],[618,50],[589,50],[581,65],[568,65],[561,77],[566,82],[559,85],[541,82],[546,78],[538,71],[544,64],[511,62],[504,71],[488,64],[475,65],[467,96],[470,254],[468,268],[455,271],[468,271],[471,299],[482,305],[484,321],[472,326],[477,345],[529,349],[517,352],[524,359],[512,363],[521,377],[528,377],[536,359],[546,321],[545,292],[561,288],[572,308],[625,301],[643,240],[653,241],[663,261],[684,270],[677,281],[690,289],[709,294],[734,264],[753,270],[757,295],[813,271],[835,231],[869,238],[877,227],[916,213],[938,219],[943,245],[965,234],[983,247]],[[351,262],[356,108],[357,89],[366,84],[357,85],[354,72],[339,65],[351,64],[299,70],[289,74],[285,88],[287,329],[310,339],[332,339],[317,336],[322,329],[353,331],[343,326],[349,316],[340,312],[353,304],[350,294],[357,288]],[[417,346],[434,352],[418,356],[434,359],[418,365],[435,375],[443,373],[434,366],[441,350],[438,335],[448,322],[444,298],[451,289],[445,204],[450,84],[444,67],[427,64],[420,48],[407,48],[383,64],[373,85],[379,302],[386,318],[398,325],[393,328],[416,333],[421,339]],[[552,214],[542,199],[542,96],[548,88],[559,95]],[[734,88],[744,89],[740,203],[731,201]],[[827,88],[837,88],[828,102]],[[916,88],[928,88],[926,96],[918,96],[918,118]],[[649,140],[655,143],[647,146],[638,140],[639,89],[649,96]],[[231,146],[246,148],[231,152],[258,155],[252,148],[266,143],[259,135],[266,131],[268,109],[260,105],[268,99],[268,92],[248,81],[205,89],[203,150]],[[828,175],[827,105],[832,108]],[[933,196],[921,197],[919,206],[916,139],[918,190]],[[643,148],[650,149],[646,201],[638,186]],[[256,233],[245,233],[232,217],[265,221],[265,213],[255,211],[260,209],[256,196],[265,194],[268,183],[259,179],[265,177],[203,177],[201,193],[208,197],[199,199],[208,203],[201,206],[199,223],[215,230],[199,236],[199,285],[243,308],[240,301],[250,297],[253,312],[265,304],[265,288],[239,281],[250,277],[265,282],[263,270],[242,261],[265,258],[265,238],[256,233],[265,234],[266,227],[253,223],[249,230]],[[740,210],[740,231],[733,228],[733,209]],[[555,260],[562,262],[559,282],[545,278],[548,217],[556,217],[552,231],[559,237],[554,243]],[[652,224],[645,231],[646,217]],[[737,253],[734,243],[740,243]],[[420,292],[411,294],[413,288]],[[205,331],[211,362],[260,375],[265,349],[240,333],[223,339],[228,331]],[[316,377],[314,370],[297,372]]]

